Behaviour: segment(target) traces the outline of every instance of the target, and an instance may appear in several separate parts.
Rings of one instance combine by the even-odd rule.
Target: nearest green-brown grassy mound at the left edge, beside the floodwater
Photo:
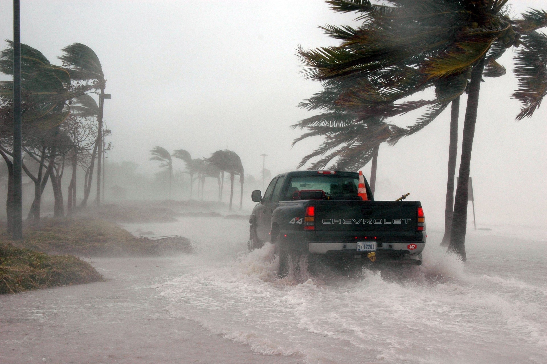
[[[91,264],[0,243],[0,293],[103,281]]]

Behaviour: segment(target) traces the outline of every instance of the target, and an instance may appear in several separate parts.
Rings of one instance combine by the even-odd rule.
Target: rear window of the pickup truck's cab
[[[325,196],[332,199],[344,199],[357,197],[358,177],[342,176],[306,176],[290,179],[288,188],[282,200],[292,200],[298,191],[321,190]]]

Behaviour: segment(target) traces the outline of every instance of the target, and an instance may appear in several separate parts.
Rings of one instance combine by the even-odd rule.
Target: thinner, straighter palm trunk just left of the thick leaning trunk
[[[450,243],[450,229],[452,228],[452,215],[454,213],[454,177],[456,175],[456,159],[458,154],[458,118],[459,118],[459,96],[452,101],[450,113],[450,137],[448,147],[448,179],[446,181],[445,200],[445,234],[441,246],[448,246]]]

